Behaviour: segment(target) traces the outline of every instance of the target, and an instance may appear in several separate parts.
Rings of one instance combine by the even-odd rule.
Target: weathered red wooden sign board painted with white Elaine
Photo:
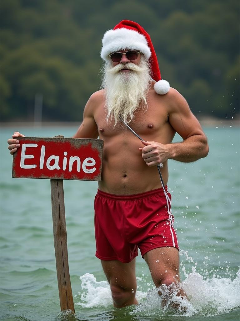
[[[83,138],[18,137],[12,177],[101,179],[103,140]]]

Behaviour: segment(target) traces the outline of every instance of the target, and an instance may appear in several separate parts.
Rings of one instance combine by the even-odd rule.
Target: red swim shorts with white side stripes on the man
[[[171,195],[168,195],[171,202]],[[171,204],[170,204],[171,205]],[[178,247],[174,217],[168,212],[162,188],[134,195],[98,190],[94,202],[96,256],[101,260],[131,262],[157,247]]]

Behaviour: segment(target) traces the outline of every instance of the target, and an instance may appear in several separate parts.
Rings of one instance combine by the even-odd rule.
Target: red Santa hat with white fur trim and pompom
[[[157,62],[157,56],[149,34],[138,23],[123,20],[119,22],[113,30],[105,32],[102,39],[101,57],[106,62],[109,54],[120,50],[140,50],[146,59],[149,59],[152,78],[156,81],[154,90],[159,95],[166,94],[170,85],[166,80],[161,79],[161,74]]]

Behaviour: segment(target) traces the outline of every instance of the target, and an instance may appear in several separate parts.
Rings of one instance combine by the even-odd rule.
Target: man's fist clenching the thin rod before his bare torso
[[[157,142],[144,142],[145,147],[140,147],[139,151],[142,152],[142,158],[149,167],[159,165],[168,160],[169,152],[167,145]]]

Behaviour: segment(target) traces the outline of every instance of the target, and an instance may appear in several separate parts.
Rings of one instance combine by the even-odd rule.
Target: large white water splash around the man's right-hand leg
[[[177,295],[175,285],[161,285],[158,289],[147,292],[145,303],[141,303],[131,312],[134,315],[184,315],[184,316],[214,316],[231,309],[240,307],[240,270],[236,278],[212,277],[204,280],[203,276],[192,267],[181,287],[188,296],[188,300]],[[158,290],[162,296],[158,295]],[[168,303],[162,304],[167,298]],[[172,308],[174,303],[177,308]]]

